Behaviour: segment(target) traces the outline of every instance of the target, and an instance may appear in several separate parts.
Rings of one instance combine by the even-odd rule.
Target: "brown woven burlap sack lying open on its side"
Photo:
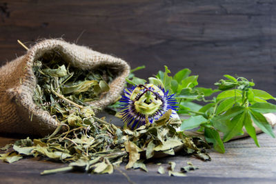
[[[91,105],[103,108],[119,97],[130,71],[125,61],[57,39],[41,41],[22,57],[0,68],[0,132],[45,136],[55,130],[57,121],[48,112],[37,108],[32,101],[36,85],[32,63],[43,54],[54,51],[59,52],[71,65],[83,70],[106,65],[120,71],[117,78],[110,83],[110,91],[103,99],[92,101]]]

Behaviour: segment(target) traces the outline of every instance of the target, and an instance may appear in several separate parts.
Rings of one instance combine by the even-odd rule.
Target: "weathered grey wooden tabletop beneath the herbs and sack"
[[[243,138],[226,143],[225,154],[208,150],[212,161],[204,162],[189,156],[170,156],[147,163],[148,172],[125,170],[124,165],[119,170],[127,174],[134,183],[275,183],[276,139],[266,134],[259,134],[257,138],[261,147],[256,147],[253,139]],[[0,136],[0,146],[16,140]],[[168,167],[169,161],[177,163],[176,170],[186,166],[187,161],[199,167],[199,170],[188,172],[186,177],[158,174],[159,166],[155,163]],[[81,172],[40,175],[43,170],[63,166],[66,164],[37,158],[10,164],[0,161],[0,183],[129,183],[126,176],[118,170],[113,174],[102,175]]]

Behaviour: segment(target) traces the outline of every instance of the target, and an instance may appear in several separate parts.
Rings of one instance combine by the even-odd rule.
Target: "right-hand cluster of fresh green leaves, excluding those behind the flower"
[[[205,139],[212,143],[215,150],[225,152],[224,143],[235,136],[244,134],[244,130],[253,138],[259,147],[254,124],[263,132],[275,138],[272,127],[263,113],[276,112],[276,105],[268,103],[275,99],[262,90],[253,89],[255,83],[244,77],[224,75],[215,85],[221,92],[204,107],[197,116],[191,116],[181,124],[181,130],[201,127]],[[222,133],[221,137],[219,133]]]

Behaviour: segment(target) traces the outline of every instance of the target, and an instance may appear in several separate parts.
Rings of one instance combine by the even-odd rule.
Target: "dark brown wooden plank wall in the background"
[[[0,0],[0,65],[24,54],[17,44],[62,37],[146,65],[190,68],[214,87],[223,74],[254,79],[276,95],[276,1]]]

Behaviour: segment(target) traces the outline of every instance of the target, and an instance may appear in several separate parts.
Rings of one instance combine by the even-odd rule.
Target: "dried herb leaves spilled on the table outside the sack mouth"
[[[86,109],[86,108],[83,108]],[[191,139],[176,132],[180,122],[169,120],[170,112],[150,125],[143,125],[132,131],[116,127],[88,112],[79,112],[82,124],[72,127],[61,134],[59,127],[43,139],[23,139],[10,145],[13,152],[1,154],[0,159],[12,163],[26,156],[43,156],[53,161],[69,163],[67,167],[46,170],[41,174],[81,170],[91,173],[111,174],[115,167],[127,161],[126,169],[141,168],[147,171],[144,161],[152,157],[191,154],[206,161],[210,156],[204,149],[208,147],[201,139]],[[9,147],[6,147],[8,149]],[[175,172],[180,174],[180,172]],[[183,175],[183,174],[182,174]]]

